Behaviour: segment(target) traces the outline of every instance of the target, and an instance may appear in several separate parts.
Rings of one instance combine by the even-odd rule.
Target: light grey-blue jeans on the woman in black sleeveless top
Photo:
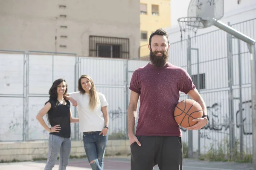
[[[59,170],[66,170],[71,150],[71,139],[49,135],[47,164],[44,170],[52,170],[60,154]]]

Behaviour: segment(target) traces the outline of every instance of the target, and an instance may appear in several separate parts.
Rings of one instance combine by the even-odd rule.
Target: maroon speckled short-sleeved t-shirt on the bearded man
[[[134,71],[129,89],[140,94],[140,108],[135,135],[181,136],[174,119],[180,91],[195,89],[185,69],[167,63],[156,67],[148,63]]]

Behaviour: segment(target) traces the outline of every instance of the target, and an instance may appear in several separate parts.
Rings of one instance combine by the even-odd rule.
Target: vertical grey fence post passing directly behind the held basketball
[[[190,36],[188,36],[188,40],[187,40],[187,72],[189,73],[189,75],[191,76],[191,38]],[[193,132],[192,130],[189,130],[189,158],[193,157]]]

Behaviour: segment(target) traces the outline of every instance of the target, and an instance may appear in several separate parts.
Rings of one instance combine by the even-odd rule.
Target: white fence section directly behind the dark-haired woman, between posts
[[[27,66],[26,95],[26,140],[47,140],[48,132],[38,124],[35,116],[49,100],[49,89],[58,78],[64,78],[67,92],[76,89],[76,54],[29,51]],[[75,113],[75,108],[71,111]],[[74,114],[73,114],[74,115]],[[76,115],[75,115],[76,116]],[[44,116],[47,120],[47,115]],[[71,124],[71,138],[76,135],[76,123]]]

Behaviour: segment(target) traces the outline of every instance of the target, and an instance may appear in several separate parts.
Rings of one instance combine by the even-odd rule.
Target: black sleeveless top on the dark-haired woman
[[[66,101],[65,105],[54,100],[49,100],[48,102],[51,104],[51,109],[48,111],[49,123],[52,127],[57,124],[61,127],[59,132],[50,134],[70,138],[70,102]]]

